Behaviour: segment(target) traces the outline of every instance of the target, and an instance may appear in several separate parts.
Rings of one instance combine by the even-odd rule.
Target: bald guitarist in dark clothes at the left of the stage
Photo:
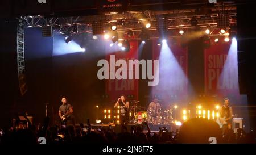
[[[59,116],[61,119],[61,123],[69,123],[71,122],[71,124],[75,124],[74,120],[73,120],[73,107],[71,106],[71,104],[67,103],[67,99],[66,98],[62,98],[61,99],[62,105],[59,108]]]

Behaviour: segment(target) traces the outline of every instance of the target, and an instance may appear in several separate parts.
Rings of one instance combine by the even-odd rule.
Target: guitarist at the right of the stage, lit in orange
[[[220,120],[222,129],[225,131],[227,128],[232,128],[233,111],[229,106],[229,99],[224,99],[224,105],[220,108]]]

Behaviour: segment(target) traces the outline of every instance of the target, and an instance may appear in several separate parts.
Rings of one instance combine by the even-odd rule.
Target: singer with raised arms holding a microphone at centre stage
[[[128,122],[129,122],[129,102],[125,101],[125,95],[121,95],[120,98],[118,98],[117,102],[115,103],[115,107],[118,107],[120,109],[120,124],[122,131],[128,127]]]

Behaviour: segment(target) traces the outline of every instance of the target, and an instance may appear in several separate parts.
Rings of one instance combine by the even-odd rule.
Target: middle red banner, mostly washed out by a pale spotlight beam
[[[187,48],[180,41],[170,39],[161,46],[153,41],[153,59],[159,60],[159,84],[152,87],[152,95],[159,95],[163,100],[172,96],[187,95]]]

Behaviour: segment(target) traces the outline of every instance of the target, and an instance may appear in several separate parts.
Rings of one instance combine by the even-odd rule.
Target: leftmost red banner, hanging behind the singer
[[[114,58],[114,62],[113,62]],[[106,46],[106,60],[109,61],[109,68],[111,65],[115,66],[114,70],[109,69],[110,79],[106,80],[106,94],[109,95],[110,100],[115,101],[117,100],[120,95],[124,94],[126,97],[130,97],[130,99],[138,100],[138,79],[129,79],[129,73],[132,71],[129,68],[128,60],[137,60],[138,59],[138,41],[130,41],[130,51],[124,52],[121,51],[121,48],[118,46],[109,47]],[[115,62],[118,60],[125,60],[126,67],[127,67],[127,79],[117,79],[116,72],[122,66],[116,66]],[[133,74],[135,74],[135,69],[133,66]],[[122,73],[123,74],[123,73]],[[114,79],[111,78],[115,76]]]

